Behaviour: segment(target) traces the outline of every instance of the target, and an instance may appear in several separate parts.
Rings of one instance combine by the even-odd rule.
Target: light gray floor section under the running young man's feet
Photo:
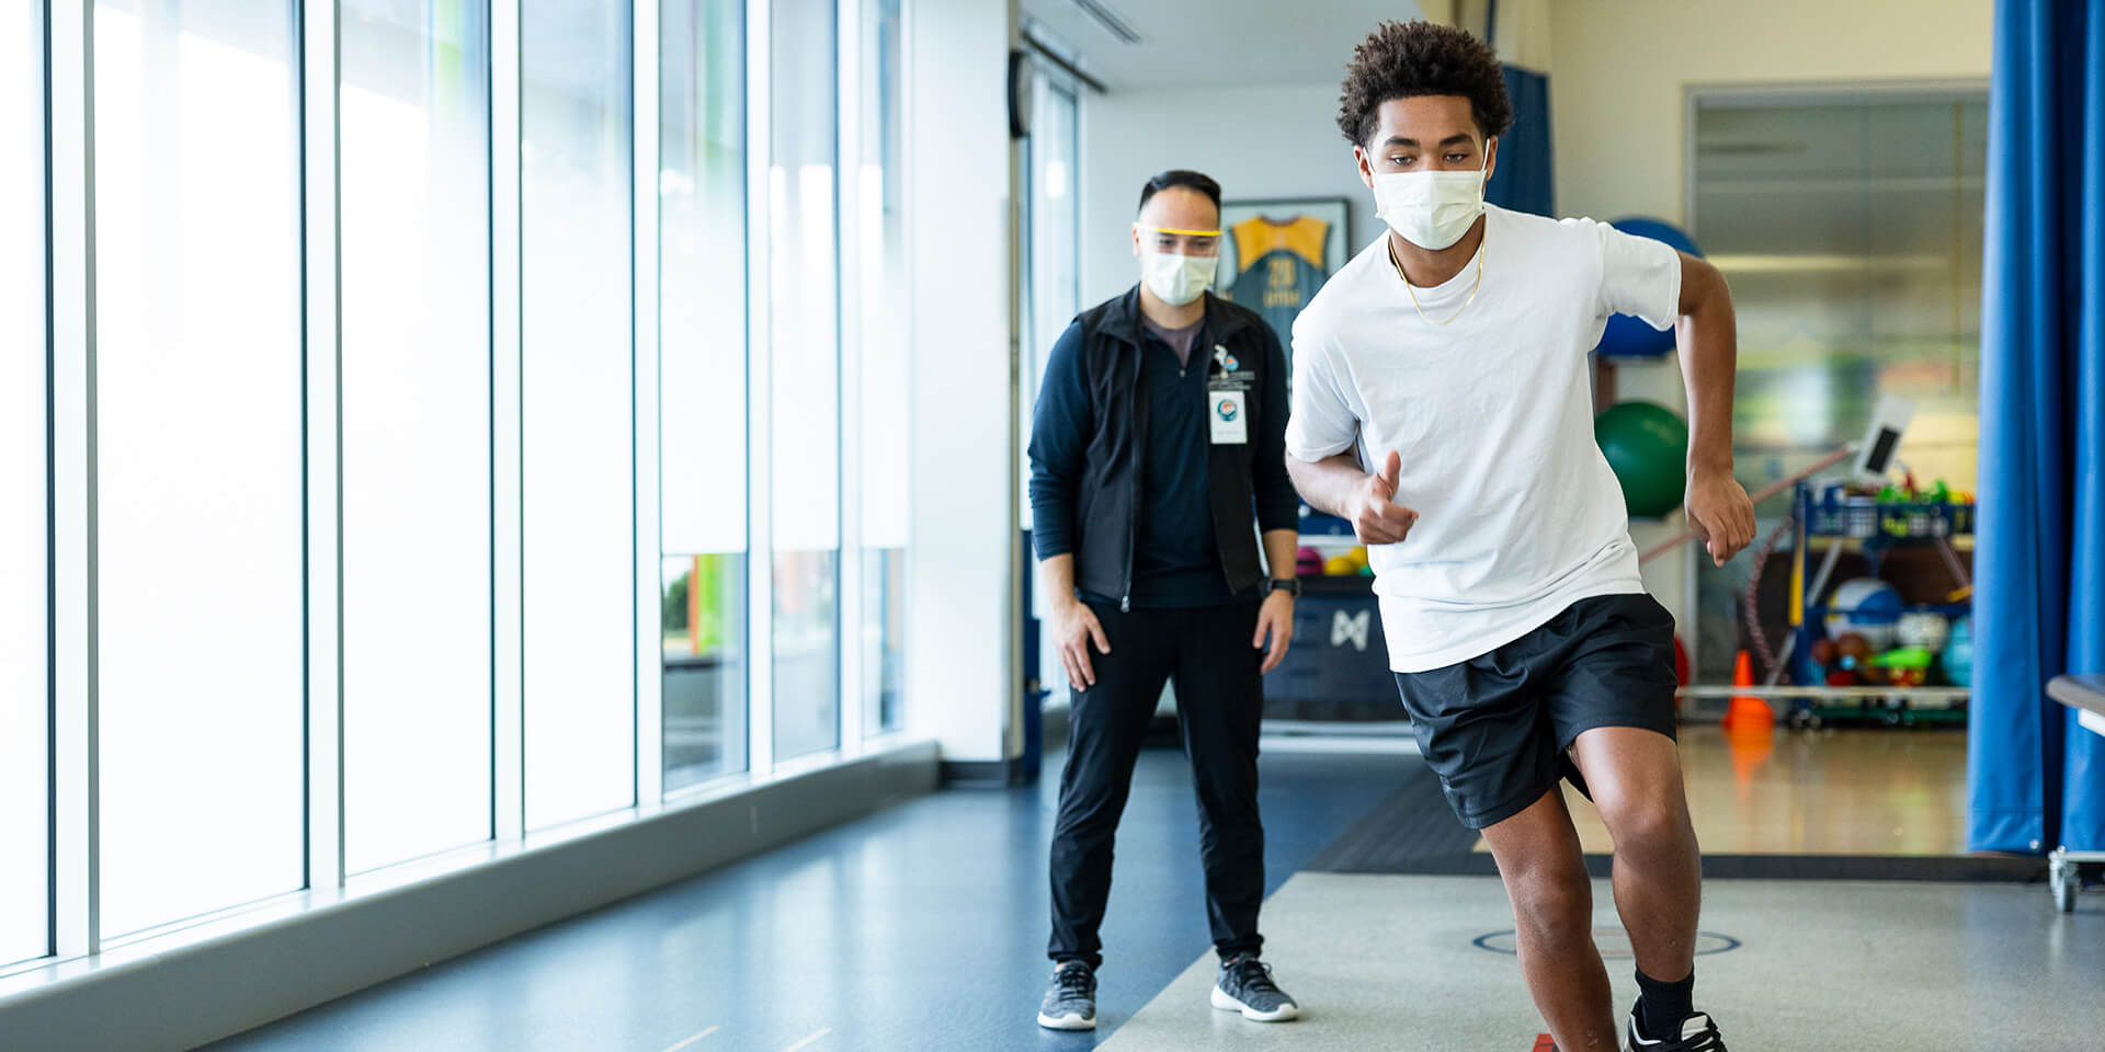
[[[1215,1012],[1202,957],[1101,1048],[1528,1052],[1541,1027],[1520,968],[1476,945],[1511,926],[1490,877],[1299,873],[1265,903],[1265,959],[1303,1020]],[[1602,909],[1627,1012],[1636,987],[1617,928]],[[1735,1050],[2105,1048],[2105,896],[2065,917],[2038,886],[1709,882],[1703,932],[1720,951],[1699,957],[1697,1006]]]

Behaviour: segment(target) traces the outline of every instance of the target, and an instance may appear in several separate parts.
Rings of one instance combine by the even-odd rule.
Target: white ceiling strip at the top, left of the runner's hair
[[[1109,8],[1141,42],[1111,36],[1076,0],[1023,0],[1023,13],[1111,90],[1337,82],[1375,23],[1421,17],[1415,0],[1088,2]]]

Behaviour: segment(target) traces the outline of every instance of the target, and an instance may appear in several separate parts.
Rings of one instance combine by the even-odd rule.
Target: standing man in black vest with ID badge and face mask
[[[1067,326],[1038,396],[1031,511],[1046,642],[1074,692],[1052,831],[1055,970],[1038,1010],[1050,1029],[1097,1027],[1111,839],[1164,680],[1177,684],[1198,783],[1221,955],[1212,1006],[1265,1023],[1299,1014],[1257,959],[1257,724],[1299,595],[1288,372],[1257,313],[1206,292],[1219,252],[1219,183],[1187,170],[1149,179],[1132,225],[1141,282]]]

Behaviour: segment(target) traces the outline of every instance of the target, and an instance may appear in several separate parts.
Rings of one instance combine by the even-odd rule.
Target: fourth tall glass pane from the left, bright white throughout
[[[636,802],[629,6],[522,8],[526,825]]]

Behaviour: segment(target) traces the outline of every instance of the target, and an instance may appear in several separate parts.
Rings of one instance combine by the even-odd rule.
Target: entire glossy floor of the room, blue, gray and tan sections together
[[[1956,825],[1964,739],[1869,734],[1779,734],[1745,768],[1751,778],[1724,739],[1688,734],[1707,846],[1945,850],[1909,825]],[[935,793],[215,1048],[1530,1048],[1537,1023],[1513,959],[1471,945],[1511,928],[1495,877],[1297,875],[1417,764],[1263,760],[1267,959],[1309,1008],[1290,1027],[1206,1008],[1196,802],[1183,757],[1149,749],[1118,839],[1097,1033],[1034,1025],[1048,968],[1048,762],[1040,785]],[[1716,818],[1726,812],[1743,814],[1747,839],[1728,839]],[[1850,825],[1863,839],[1812,831]],[[1612,943],[1606,911],[1602,928]],[[2067,1050],[2086,1046],[2054,1041],[2105,1031],[2105,896],[2059,917],[2036,886],[1711,882],[1705,930],[1739,940],[1701,970],[1739,1048]],[[1621,966],[1617,978],[1627,983]]]

